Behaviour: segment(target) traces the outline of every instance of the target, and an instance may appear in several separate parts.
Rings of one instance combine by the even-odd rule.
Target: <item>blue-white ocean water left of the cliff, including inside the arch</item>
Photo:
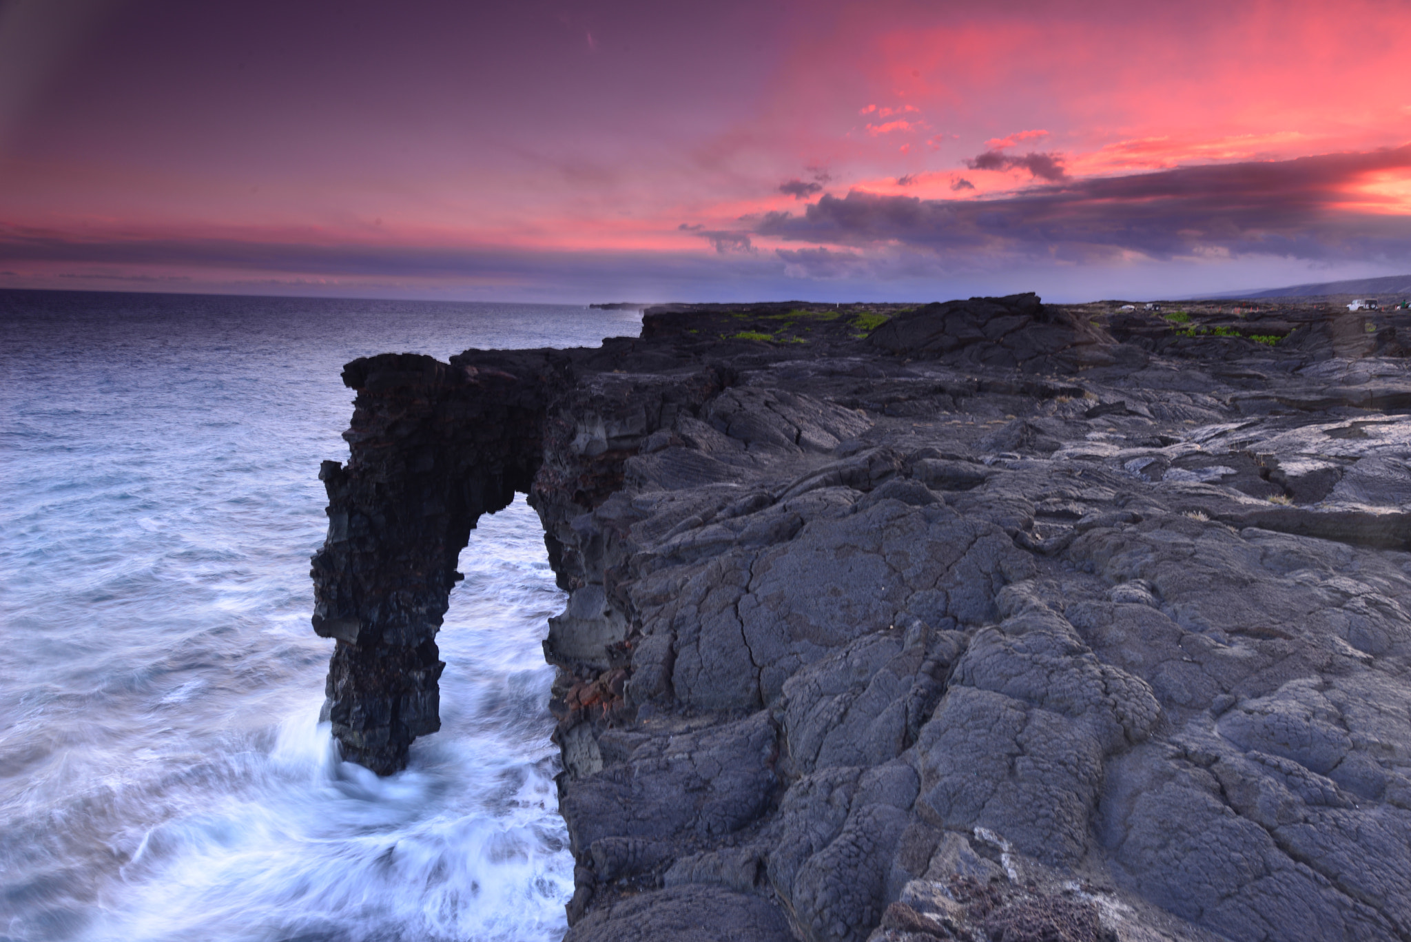
[[[341,364],[594,346],[636,312],[0,292],[0,939],[557,939],[573,861],[522,499],[471,534],[442,732],[377,778],[309,627]]]

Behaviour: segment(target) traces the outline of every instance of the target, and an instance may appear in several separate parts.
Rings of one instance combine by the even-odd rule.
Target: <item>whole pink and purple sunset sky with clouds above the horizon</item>
[[[1404,0],[0,0],[0,287],[1085,301],[1403,274],[1408,51]]]

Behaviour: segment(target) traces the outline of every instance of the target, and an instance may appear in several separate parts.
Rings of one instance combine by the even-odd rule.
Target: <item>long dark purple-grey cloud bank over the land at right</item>
[[[995,167],[981,167],[982,161]],[[1103,179],[1064,178],[1047,154],[986,153],[971,162],[979,169],[1023,167],[1036,178],[1057,174],[1058,179],[1000,199],[824,193],[803,215],[768,213],[749,232],[835,246],[886,243],[1074,261],[1127,251],[1157,260],[1211,251],[1308,260],[1411,256],[1411,217],[1349,206],[1348,195],[1367,174],[1411,168],[1411,145]]]

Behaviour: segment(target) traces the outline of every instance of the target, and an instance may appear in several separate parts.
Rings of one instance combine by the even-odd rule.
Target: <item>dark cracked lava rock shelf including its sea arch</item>
[[[571,942],[1411,939],[1411,322],[1188,305],[653,308],[350,363],[327,716],[437,729],[516,491]]]

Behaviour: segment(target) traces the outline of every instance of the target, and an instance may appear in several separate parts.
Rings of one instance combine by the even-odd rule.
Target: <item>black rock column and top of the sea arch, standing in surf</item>
[[[483,513],[528,491],[567,362],[550,350],[354,360],[346,466],[323,462],[329,534],[313,556],[313,630],[334,638],[325,717],[344,758],[388,775],[440,729],[436,633]]]

